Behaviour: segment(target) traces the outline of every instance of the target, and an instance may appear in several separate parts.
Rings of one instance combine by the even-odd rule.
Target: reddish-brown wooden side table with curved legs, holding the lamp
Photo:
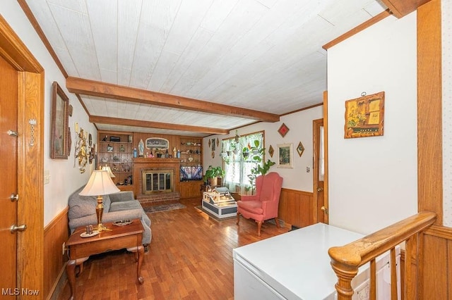
[[[66,242],[69,251],[69,262],[66,265],[66,274],[71,287],[71,298],[76,295],[76,265],[86,261],[89,256],[101,254],[106,251],[126,248],[136,253],[136,277],[143,285],[144,279],[141,277],[141,264],[143,263],[144,247],[143,225],[141,220],[135,219],[129,225],[116,226],[113,223],[105,223],[109,231],[101,231],[93,237],[81,237],[85,232],[85,227],[78,227]]]

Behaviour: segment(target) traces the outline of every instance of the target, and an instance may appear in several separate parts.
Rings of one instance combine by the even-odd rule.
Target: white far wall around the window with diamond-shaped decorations
[[[319,94],[319,103],[323,102],[323,95]],[[246,135],[251,132],[257,132],[265,130],[265,147],[266,147],[266,161],[278,161],[278,144],[293,144],[293,168],[277,168],[277,165],[273,165],[270,168],[270,172],[277,172],[282,176],[283,187],[287,189],[296,189],[304,192],[312,192],[312,121],[323,118],[323,106],[317,106],[305,111],[299,111],[290,115],[284,115],[280,118],[280,122],[277,123],[256,123],[238,129],[239,135]],[[281,137],[278,133],[278,129],[281,124],[285,123],[289,127],[289,132],[285,137]],[[231,130],[230,135],[213,135],[203,139],[203,165],[205,169],[208,165],[222,165],[222,159],[220,158],[221,140],[229,137],[234,137],[235,130]],[[208,140],[218,138],[220,140],[220,146],[215,147],[215,158],[212,158],[212,151],[209,149]],[[298,143],[302,142],[304,146],[304,152],[300,157],[297,153]],[[268,154],[270,145],[273,146],[275,153],[273,157]],[[306,168],[310,168],[310,172],[307,173]]]

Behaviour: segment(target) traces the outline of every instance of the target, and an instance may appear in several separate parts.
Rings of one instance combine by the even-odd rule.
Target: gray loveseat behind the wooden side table
[[[83,186],[84,187],[84,186]],[[77,189],[69,196],[69,228],[71,233],[77,228],[86,225],[96,225],[97,196],[80,196],[83,189]],[[143,224],[143,245],[150,244],[152,237],[150,231],[150,218],[143,211],[140,202],[133,198],[133,192],[119,192],[102,196],[104,213],[102,223],[118,220],[140,219]]]

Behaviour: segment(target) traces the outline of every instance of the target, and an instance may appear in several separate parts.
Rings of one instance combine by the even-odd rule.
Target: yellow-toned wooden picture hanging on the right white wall
[[[384,92],[345,101],[344,138],[383,135]]]

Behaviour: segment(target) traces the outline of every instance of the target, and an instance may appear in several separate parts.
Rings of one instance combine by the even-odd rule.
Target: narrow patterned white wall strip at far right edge
[[[441,1],[443,35],[443,221],[452,227],[452,1]]]

